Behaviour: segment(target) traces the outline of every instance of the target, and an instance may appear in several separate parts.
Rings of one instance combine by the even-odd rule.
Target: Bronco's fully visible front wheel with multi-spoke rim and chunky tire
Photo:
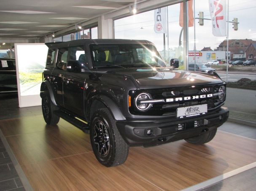
[[[97,110],[90,124],[92,150],[97,160],[106,167],[123,164],[129,146],[116,128],[115,120],[106,108]]]

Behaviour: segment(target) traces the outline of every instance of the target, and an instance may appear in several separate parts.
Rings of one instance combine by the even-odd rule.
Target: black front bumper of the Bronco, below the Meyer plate
[[[116,121],[116,126],[129,146],[154,146],[158,144],[199,136],[221,126],[229,117],[229,110],[218,111],[189,119],[160,119],[143,121]],[[147,132],[151,132],[148,134]]]

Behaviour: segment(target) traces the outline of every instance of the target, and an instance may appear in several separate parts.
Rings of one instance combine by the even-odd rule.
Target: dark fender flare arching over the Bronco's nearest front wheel
[[[116,103],[110,99],[108,96],[105,95],[97,95],[94,97],[94,99],[91,99],[90,102],[92,102],[89,105],[89,108],[94,107],[95,102],[101,102],[102,104],[105,105],[105,107],[108,108],[110,114],[113,116],[115,120],[125,120],[126,118],[124,115],[121,113],[121,110],[119,107],[116,105]],[[93,111],[93,110],[87,110],[87,111]],[[91,113],[93,115],[93,113]]]

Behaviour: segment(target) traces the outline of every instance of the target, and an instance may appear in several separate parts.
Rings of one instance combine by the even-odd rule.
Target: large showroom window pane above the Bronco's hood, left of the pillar
[[[170,64],[170,60],[175,58],[179,60],[180,68],[183,68],[183,28],[179,23],[180,7],[181,3],[178,3],[117,19],[114,21],[115,39],[149,40],[155,44],[166,63]],[[160,16],[161,20],[165,20],[165,25],[162,23],[154,29],[155,18],[159,19]]]

